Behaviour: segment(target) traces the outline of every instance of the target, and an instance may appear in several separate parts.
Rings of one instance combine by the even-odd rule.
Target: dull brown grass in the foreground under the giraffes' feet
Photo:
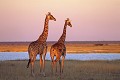
[[[39,74],[39,61],[31,77],[27,61],[0,61],[0,80],[120,80],[120,60],[65,61],[61,77],[51,75],[50,61],[46,61],[46,77]]]

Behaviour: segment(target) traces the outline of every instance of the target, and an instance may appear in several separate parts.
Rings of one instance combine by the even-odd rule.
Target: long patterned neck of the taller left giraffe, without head
[[[39,36],[37,41],[45,42],[47,40],[47,37],[48,37],[48,23],[49,23],[49,20],[47,19],[47,16],[46,16],[45,23],[44,23],[44,30],[43,30],[42,34]]]

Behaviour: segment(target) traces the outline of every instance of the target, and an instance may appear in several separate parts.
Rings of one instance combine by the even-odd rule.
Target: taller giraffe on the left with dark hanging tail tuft
[[[34,62],[36,60],[37,54],[40,55],[40,73],[42,72],[43,75],[45,76],[45,56],[47,53],[46,40],[48,37],[49,20],[56,21],[56,19],[53,17],[53,15],[51,15],[50,12],[48,12],[48,14],[46,15],[44,29],[43,29],[42,34],[39,36],[39,38],[36,41],[31,42],[28,47],[29,61],[27,64],[27,68],[29,67],[29,64],[31,64],[32,76],[35,76],[34,75]]]

